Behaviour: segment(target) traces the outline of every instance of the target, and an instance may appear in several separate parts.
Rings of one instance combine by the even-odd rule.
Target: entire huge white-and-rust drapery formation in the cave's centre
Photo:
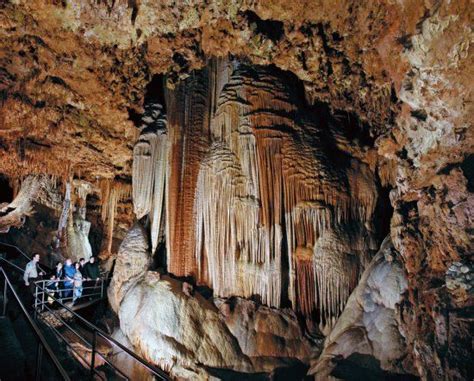
[[[324,325],[374,249],[377,191],[368,167],[337,152],[302,107],[285,76],[214,61],[168,92],[167,134],[142,131],[134,205],[138,218],[166,205],[171,273],[218,296],[319,312]],[[153,249],[160,225],[152,219]]]

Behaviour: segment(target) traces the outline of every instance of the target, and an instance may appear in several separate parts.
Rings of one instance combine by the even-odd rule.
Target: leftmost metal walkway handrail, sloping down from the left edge
[[[6,274],[5,270],[3,267],[0,266],[0,274],[3,276],[5,279],[4,286],[3,286],[3,308],[2,308],[2,316],[1,317],[6,317],[6,312],[7,312],[7,303],[8,303],[8,290],[10,290],[11,294],[13,295],[14,300],[17,302],[19,305],[23,315],[26,317],[26,320],[30,324],[31,328],[33,329],[33,332],[37,339],[39,340],[38,343],[38,351],[36,354],[36,371],[35,371],[35,380],[39,381],[41,377],[41,369],[43,365],[43,351],[46,351],[47,356],[53,363],[54,367],[56,368],[57,372],[61,376],[63,380],[70,380],[70,377],[68,376],[67,372],[64,370],[64,368],[61,366],[61,363],[59,362],[59,359],[56,357],[54,354],[54,351],[51,349],[49,346],[48,342],[46,341],[44,335],[41,333],[38,325],[35,323],[35,321],[31,318],[31,316],[28,314],[25,306],[23,305],[22,301],[18,297],[18,294],[16,293],[12,283],[10,282],[10,279],[8,278],[8,275]]]

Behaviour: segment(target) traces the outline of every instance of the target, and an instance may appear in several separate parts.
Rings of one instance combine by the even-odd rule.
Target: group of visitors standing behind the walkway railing
[[[32,293],[35,292],[35,281],[40,280],[45,272],[39,268],[40,255],[35,254],[25,268],[25,285],[30,287]],[[54,273],[49,276],[46,282],[46,292],[48,302],[53,302],[53,296],[60,300],[70,300],[73,304],[83,295],[84,287],[95,287],[100,278],[100,268],[95,257],[88,261],[81,258],[79,262],[73,263],[71,259],[66,259],[65,263],[58,262]],[[86,293],[87,294],[87,293]]]

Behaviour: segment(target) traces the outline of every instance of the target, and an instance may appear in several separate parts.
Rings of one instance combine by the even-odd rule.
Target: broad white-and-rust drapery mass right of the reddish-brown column
[[[239,67],[224,87],[196,189],[195,257],[200,282],[217,295],[258,294],[280,306],[287,292],[295,309],[320,310],[326,323],[340,313],[359,268],[320,265],[342,255],[334,242],[334,251],[313,248],[337,226],[369,221],[376,192],[365,167],[328,161],[318,127],[295,122],[294,99],[262,69]]]

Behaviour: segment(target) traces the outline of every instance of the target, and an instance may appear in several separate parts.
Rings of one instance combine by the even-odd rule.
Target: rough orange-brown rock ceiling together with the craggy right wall
[[[0,172],[130,182],[130,118],[155,74],[173,87],[228,54],[290,71],[310,103],[371,136],[364,153],[346,150],[393,189],[415,366],[457,377],[472,300],[443,285],[474,251],[472,19],[468,0],[2,2]]]

